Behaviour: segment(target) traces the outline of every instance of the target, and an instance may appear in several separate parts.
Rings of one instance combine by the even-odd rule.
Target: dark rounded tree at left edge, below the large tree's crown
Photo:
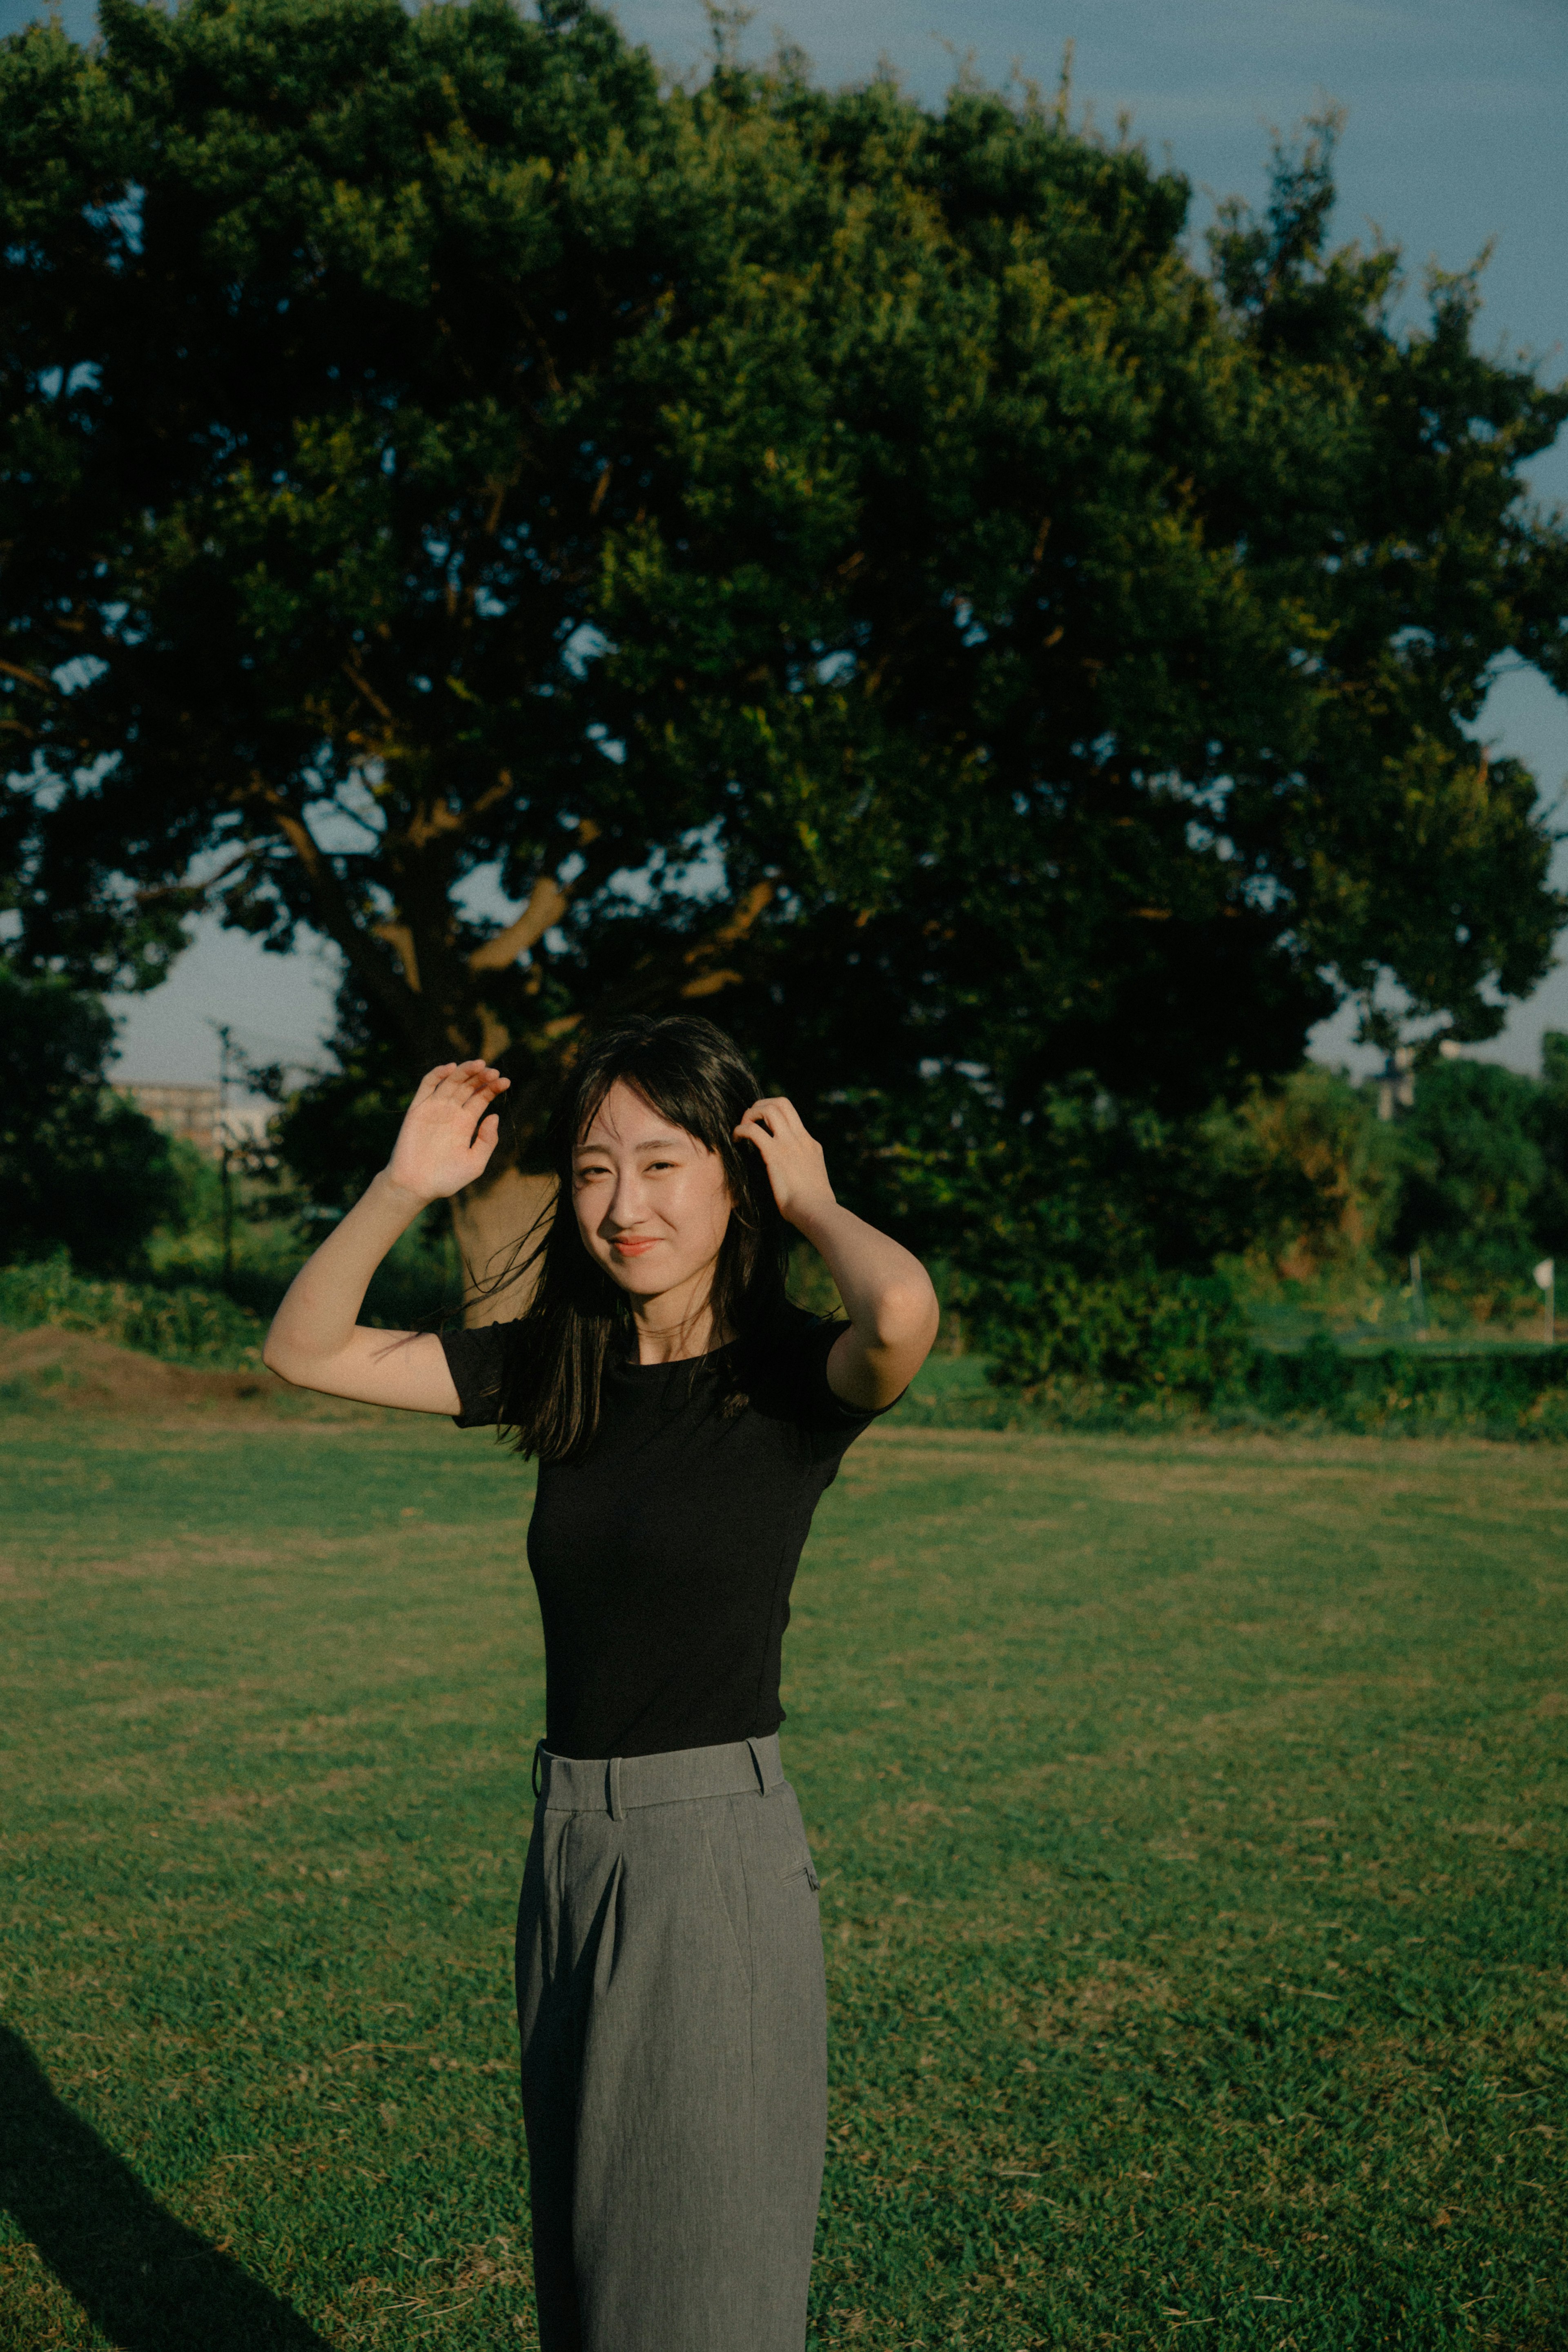
[[[63,978],[21,978],[0,960],[0,1251],[68,1249],[122,1272],[181,1211],[174,1155],[103,1063],[115,1042],[101,1002]]]

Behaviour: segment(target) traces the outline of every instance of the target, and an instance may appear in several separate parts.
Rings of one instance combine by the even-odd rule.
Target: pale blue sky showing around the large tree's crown
[[[0,31],[42,14],[0,0]],[[708,54],[701,0],[623,0],[625,31],[672,73]],[[73,33],[89,26],[66,0]],[[1380,230],[1403,249],[1413,313],[1425,263],[1460,268],[1493,242],[1481,339],[1530,350],[1568,374],[1568,0],[773,0],[745,31],[752,52],[776,33],[825,82],[858,80],[889,59],[924,99],[940,99],[969,56],[985,80],[1020,71],[1056,87],[1074,45],[1077,108],[1133,136],[1194,183],[1194,226],[1215,198],[1258,198],[1269,136],[1324,101],[1347,111],[1335,233]],[[1542,459],[1535,492],[1568,503],[1568,449]],[[1556,802],[1568,783],[1568,703],[1523,670],[1493,689],[1481,729],[1519,753]],[[1563,858],[1568,880],[1568,858]],[[202,936],[174,978],[125,1025],[134,1077],[205,1077],[209,1021],[233,1021],[268,1051],[308,1054],[329,1016],[322,955],[261,955],[249,941]],[[1521,1007],[1488,1051],[1535,1065],[1542,1025],[1568,1028],[1568,971]],[[1342,1025],[1319,1037],[1338,1058]]]

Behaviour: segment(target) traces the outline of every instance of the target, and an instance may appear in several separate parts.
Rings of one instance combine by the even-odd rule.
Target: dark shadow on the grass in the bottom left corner
[[[0,2206],[122,2352],[327,2352],[299,2312],[165,2213],[2,2025]]]

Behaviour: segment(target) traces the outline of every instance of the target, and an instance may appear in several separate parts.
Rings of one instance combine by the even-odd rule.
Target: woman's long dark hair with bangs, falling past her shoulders
[[[632,1087],[724,1167],[729,1228],[708,1305],[715,1336],[733,1343],[717,1357],[729,1409],[745,1395],[748,1343],[785,1310],[788,1228],[762,1152],[736,1143],[731,1131],[759,1094],[741,1051],[693,1014],[663,1021],[637,1014],[592,1033],[545,1129],[555,1200],[498,1282],[487,1284],[487,1291],[510,1287],[538,1268],[534,1296],[508,1334],[501,1428],[515,1430],[520,1454],[541,1461],[571,1461],[592,1444],[604,1367],[632,1338],[630,1301],[588,1254],[571,1207],[571,1155],[616,1084]]]

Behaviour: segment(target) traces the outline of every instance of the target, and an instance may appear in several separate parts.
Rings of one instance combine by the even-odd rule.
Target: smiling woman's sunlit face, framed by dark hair
[[[632,1298],[703,1287],[729,1225],[724,1162],[618,1082],[571,1155],[583,1247]]]

